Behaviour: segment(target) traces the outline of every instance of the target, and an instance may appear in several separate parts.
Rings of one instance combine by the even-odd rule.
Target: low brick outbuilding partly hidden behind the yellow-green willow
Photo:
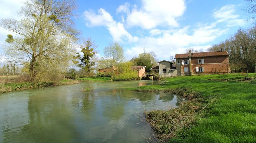
[[[98,71],[104,72],[106,74],[111,72],[113,68],[114,66],[109,66],[109,67],[101,68]],[[136,70],[138,72],[138,77],[140,79],[146,74],[146,66],[131,66],[131,69]]]

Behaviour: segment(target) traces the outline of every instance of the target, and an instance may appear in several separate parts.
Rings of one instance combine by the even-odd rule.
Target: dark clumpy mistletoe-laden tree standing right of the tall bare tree
[[[94,55],[97,53],[95,52],[96,45],[94,45],[94,41],[91,41],[90,38],[87,41],[84,41],[84,46],[80,47],[81,52],[83,55],[81,56],[79,52],[73,57],[73,63],[76,64],[78,67],[82,68],[87,75],[90,75],[93,71],[93,66],[95,65],[95,57]]]

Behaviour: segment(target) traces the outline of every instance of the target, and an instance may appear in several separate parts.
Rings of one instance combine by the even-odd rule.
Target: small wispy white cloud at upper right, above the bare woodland
[[[213,13],[213,17],[217,19],[217,23],[225,22],[227,23],[228,27],[245,25],[245,20],[239,19],[240,15],[235,13],[235,5],[226,5],[219,10],[215,10]]]

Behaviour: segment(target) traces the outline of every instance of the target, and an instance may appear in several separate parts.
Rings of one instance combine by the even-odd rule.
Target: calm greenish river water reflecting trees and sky
[[[163,92],[124,90],[149,84],[157,83],[84,82],[0,94],[0,142],[146,142],[153,131],[138,116],[181,101]]]

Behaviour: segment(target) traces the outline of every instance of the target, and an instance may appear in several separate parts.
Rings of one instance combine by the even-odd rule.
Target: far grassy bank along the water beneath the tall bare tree
[[[58,82],[12,82],[12,83],[4,83],[0,84],[0,93],[11,92],[16,90],[25,90],[25,89],[33,89],[33,88],[43,88],[50,86],[58,86],[58,85],[66,85],[66,84],[76,84],[78,81],[71,79],[63,79]]]

